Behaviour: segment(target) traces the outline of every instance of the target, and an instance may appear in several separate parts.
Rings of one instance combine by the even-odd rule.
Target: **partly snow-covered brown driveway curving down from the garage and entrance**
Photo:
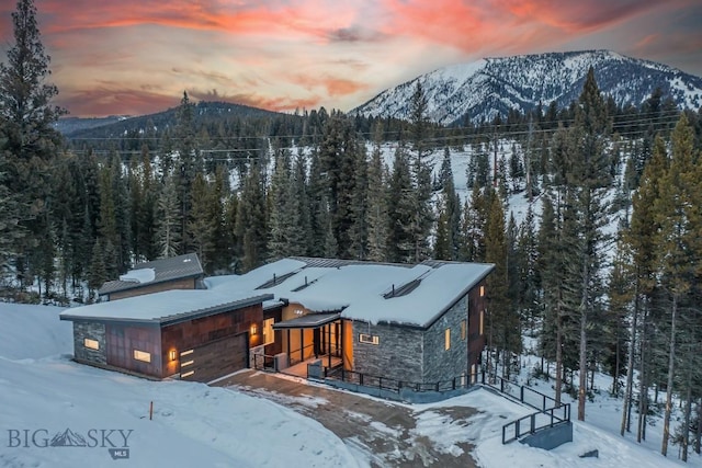
[[[467,441],[448,450],[445,440],[437,441],[417,427],[437,418],[446,421],[445,431],[461,431],[476,412],[465,407],[414,410],[411,406],[363,397],[304,379],[257,370],[245,370],[214,384],[275,401],[333,432],[352,452],[361,453],[372,467],[476,467]],[[437,433],[439,435],[440,433]],[[443,443],[443,444],[442,444]],[[461,453],[452,455],[449,452]]]

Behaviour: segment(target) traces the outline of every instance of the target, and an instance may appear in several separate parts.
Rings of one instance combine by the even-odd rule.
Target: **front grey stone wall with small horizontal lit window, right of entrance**
[[[361,343],[359,334],[378,336],[378,344]],[[353,370],[403,381],[422,381],[422,330],[353,321]]]

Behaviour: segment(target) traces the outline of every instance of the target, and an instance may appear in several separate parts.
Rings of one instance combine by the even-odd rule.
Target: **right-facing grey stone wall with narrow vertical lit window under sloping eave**
[[[468,297],[463,296],[424,333],[424,383],[451,380],[468,372]],[[466,321],[466,338],[461,339],[461,322]],[[451,347],[445,349],[445,330],[451,329]]]

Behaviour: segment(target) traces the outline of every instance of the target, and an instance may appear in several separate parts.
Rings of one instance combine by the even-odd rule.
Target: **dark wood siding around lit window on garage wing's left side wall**
[[[162,377],[161,335],[159,328],[107,323],[105,326],[107,365],[152,377]],[[134,358],[134,350],[150,354],[150,363]]]

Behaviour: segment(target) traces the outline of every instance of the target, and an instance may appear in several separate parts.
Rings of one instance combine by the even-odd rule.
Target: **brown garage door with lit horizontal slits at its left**
[[[248,333],[223,338],[180,353],[180,378],[210,381],[247,367]]]

